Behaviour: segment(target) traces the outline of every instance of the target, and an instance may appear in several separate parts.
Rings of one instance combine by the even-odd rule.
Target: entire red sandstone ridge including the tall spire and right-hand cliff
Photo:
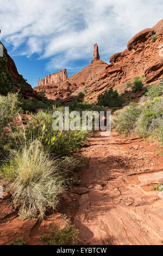
[[[153,42],[151,36],[157,34]],[[35,87],[36,92],[46,92],[48,99],[60,97],[68,102],[87,89],[85,99],[95,101],[97,96],[110,87],[125,90],[127,82],[135,76],[146,76],[146,82],[157,83],[163,75],[163,20],[153,28],[147,28],[137,33],[127,44],[123,52],[111,56],[110,64],[99,59],[98,46],[94,46],[93,60],[90,65],[77,74],[60,82],[48,83]],[[160,54],[159,54],[160,52]],[[60,71],[62,74],[62,71]],[[64,71],[65,72],[65,71]],[[52,74],[52,77],[58,76]],[[46,76],[47,81],[51,76]],[[92,92],[91,96],[89,96]]]

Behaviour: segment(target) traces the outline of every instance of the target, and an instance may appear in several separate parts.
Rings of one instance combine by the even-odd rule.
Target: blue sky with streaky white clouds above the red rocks
[[[163,19],[162,0],[0,0],[0,40],[33,87],[37,79],[89,65],[93,45],[109,63],[127,42]]]

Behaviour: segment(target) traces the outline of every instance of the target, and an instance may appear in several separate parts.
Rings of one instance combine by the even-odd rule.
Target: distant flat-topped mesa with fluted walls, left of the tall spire
[[[38,86],[51,86],[56,83],[63,82],[67,79],[67,70],[63,69],[52,75],[47,75],[45,78],[40,78],[37,80]]]

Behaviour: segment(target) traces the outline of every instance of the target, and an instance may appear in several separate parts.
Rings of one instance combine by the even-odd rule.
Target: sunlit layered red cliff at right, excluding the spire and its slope
[[[156,39],[151,40],[153,34]],[[110,87],[123,92],[126,83],[135,76],[146,76],[146,83],[158,83],[163,75],[163,20],[153,28],[137,33],[127,44],[127,49],[111,56],[110,63],[96,80],[87,83],[89,90],[86,100],[97,96]]]

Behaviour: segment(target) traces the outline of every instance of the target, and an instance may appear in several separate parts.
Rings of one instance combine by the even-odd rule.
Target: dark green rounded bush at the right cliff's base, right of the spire
[[[104,94],[98,95],[98,105],[100,106],[121,107],[123,103],[123,97],[118,95],[117,90],[113,90],[112,87]]]

